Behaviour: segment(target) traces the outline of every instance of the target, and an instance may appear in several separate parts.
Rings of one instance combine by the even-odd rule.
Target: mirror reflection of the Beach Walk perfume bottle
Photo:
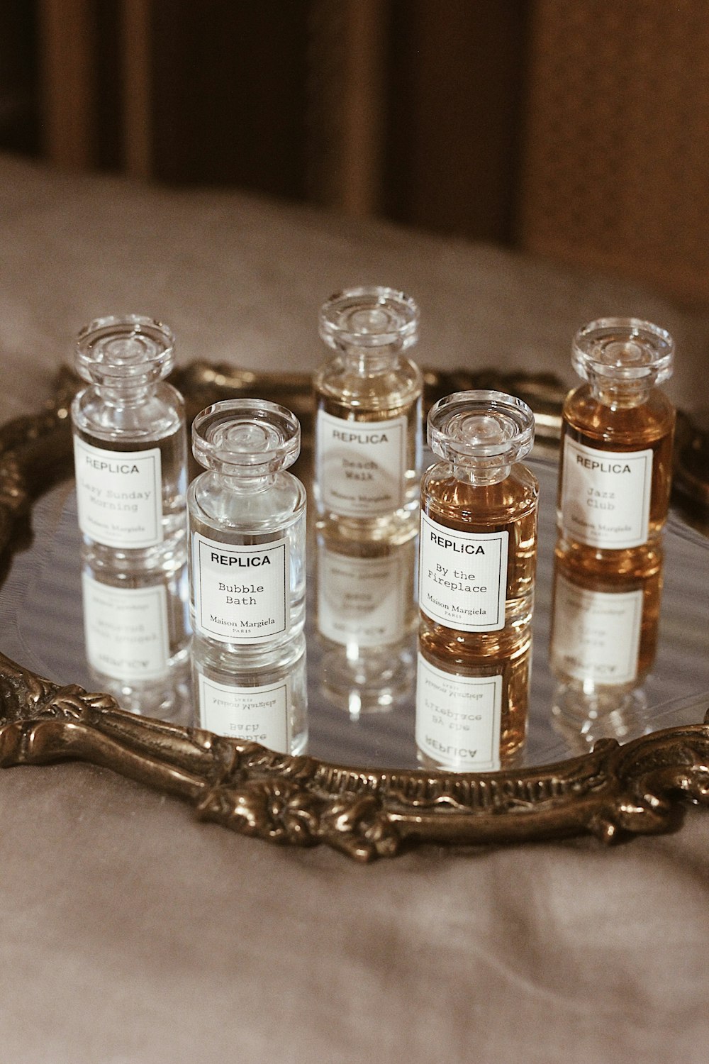
[[[390,710],[413,683],[416,541],[317,544],[320,685],[350,716]]]

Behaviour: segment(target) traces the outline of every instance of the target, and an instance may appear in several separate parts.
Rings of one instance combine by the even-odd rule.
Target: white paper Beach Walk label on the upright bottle
[[[326,510],[376,517],[404,501],[406,418],[345,421],[318,411],[318,484]]]

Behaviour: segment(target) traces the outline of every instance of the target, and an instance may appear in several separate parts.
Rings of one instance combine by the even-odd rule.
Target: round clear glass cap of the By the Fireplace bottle
[[[427,438],[434,453],[451,462],[512,465],[531,450],[535,416],[504,392],[456,392],[432,406]]]

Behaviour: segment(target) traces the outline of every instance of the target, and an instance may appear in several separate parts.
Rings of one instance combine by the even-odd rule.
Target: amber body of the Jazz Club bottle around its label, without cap
[[[672,443],[675,410],[669,399],[657,388],[649,392],[644,402],[630,405],[611,399],[602,402],[589,384],[568,396],[563,406],[561,454],[567,438],[597,451],[653,452],[653,473],[649,497],[647,541],[640,547],[621,549],[590,546],[570,535],[562,526],[563,459],[559,464],[559,492],[557,520],[560,550],[570,555],[572,564],[581,571],[602,575],[618,572],[641,576],[657,565],[655,546],[660,539],[666,520],[672,486]]]

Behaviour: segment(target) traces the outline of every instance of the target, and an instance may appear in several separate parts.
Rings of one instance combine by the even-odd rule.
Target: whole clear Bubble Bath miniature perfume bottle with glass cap
[[[192,629],[229,655],[274,648],[305,616],[305,488],[286,472],[298,419],[264,399],[227,399],[192,422],[206,472],[189,485]]]

